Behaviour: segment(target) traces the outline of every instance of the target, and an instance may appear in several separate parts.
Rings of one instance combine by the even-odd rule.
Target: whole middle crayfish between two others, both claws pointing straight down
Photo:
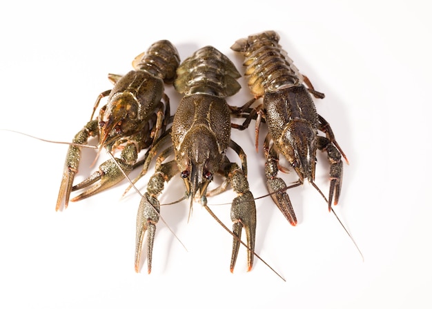
[[[235,266],[242,228],[246,230],[248,270],[251,270],[255,247],[255,201],[246,179],[246,155],[242,148],[230,139],[230,108],[224,99],[240,89],[235,80],[239,77],[241,75],[233,63],[212,46],[197,50],[177,69],[174,86],[184,97],[174,115],[172,144],[163,149],[162,145],[166,141],[161,138],[153,148],[160,148],[161,155],[157,159],[155,174],[150,178],[138,210],[135,270],[139,271],[141,246],[146,231],[148,272],[151,270],[155,225],[160,209],[157,197],[164,189],[164,182],[170,181],[177,174],[185,183],[185,195],[190,199],[190,210],[193,199],[198,199],[213,215],[207,206],[206,196],[226,190],[228,184],[237,193],[231,207],[234,240],[230,270],[233,271]],[[228,148],[237,152],[242,167],[228,160]],[[175,159],[164,163],[170,155],[174,155]],[[225,178],[224,183],[207,192],[215,175],[222,175]],[[220,223],[219,219],[217,221]]]

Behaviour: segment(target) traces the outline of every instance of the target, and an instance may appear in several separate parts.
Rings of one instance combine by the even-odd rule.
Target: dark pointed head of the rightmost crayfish
[[[315,164],[317,152],[317,132],[302,119],[293,120],[284,130],[277,146],[294,168],[300,181],[315,180]]]

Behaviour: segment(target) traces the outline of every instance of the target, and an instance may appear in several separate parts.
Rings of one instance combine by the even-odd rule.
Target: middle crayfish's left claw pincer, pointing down
[[[142,244],[147,231],[147,270],[152,270],[153,243],[155,241],[156,223],[159,221],[160,206],[156,197],[148,192],[141,199],[137,214],[137,237],[135,246],[135,272],[139,272]]]

